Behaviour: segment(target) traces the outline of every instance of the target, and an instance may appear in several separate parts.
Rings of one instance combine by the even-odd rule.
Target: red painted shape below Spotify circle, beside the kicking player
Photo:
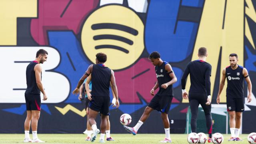
[[[144,72],[142,74],[142,72]],[[139,75],[140,74],[140,75]],[[154,66],[148,58],[140,59],[134,66],[115,72],[116,84],[118,87],[118,96],[122,103],[140,103],[138,92],[146,102],[150,102],[153,98],[150,90],[155,85],[156,72]],[[155,90],[155,94],[158,89]]]

